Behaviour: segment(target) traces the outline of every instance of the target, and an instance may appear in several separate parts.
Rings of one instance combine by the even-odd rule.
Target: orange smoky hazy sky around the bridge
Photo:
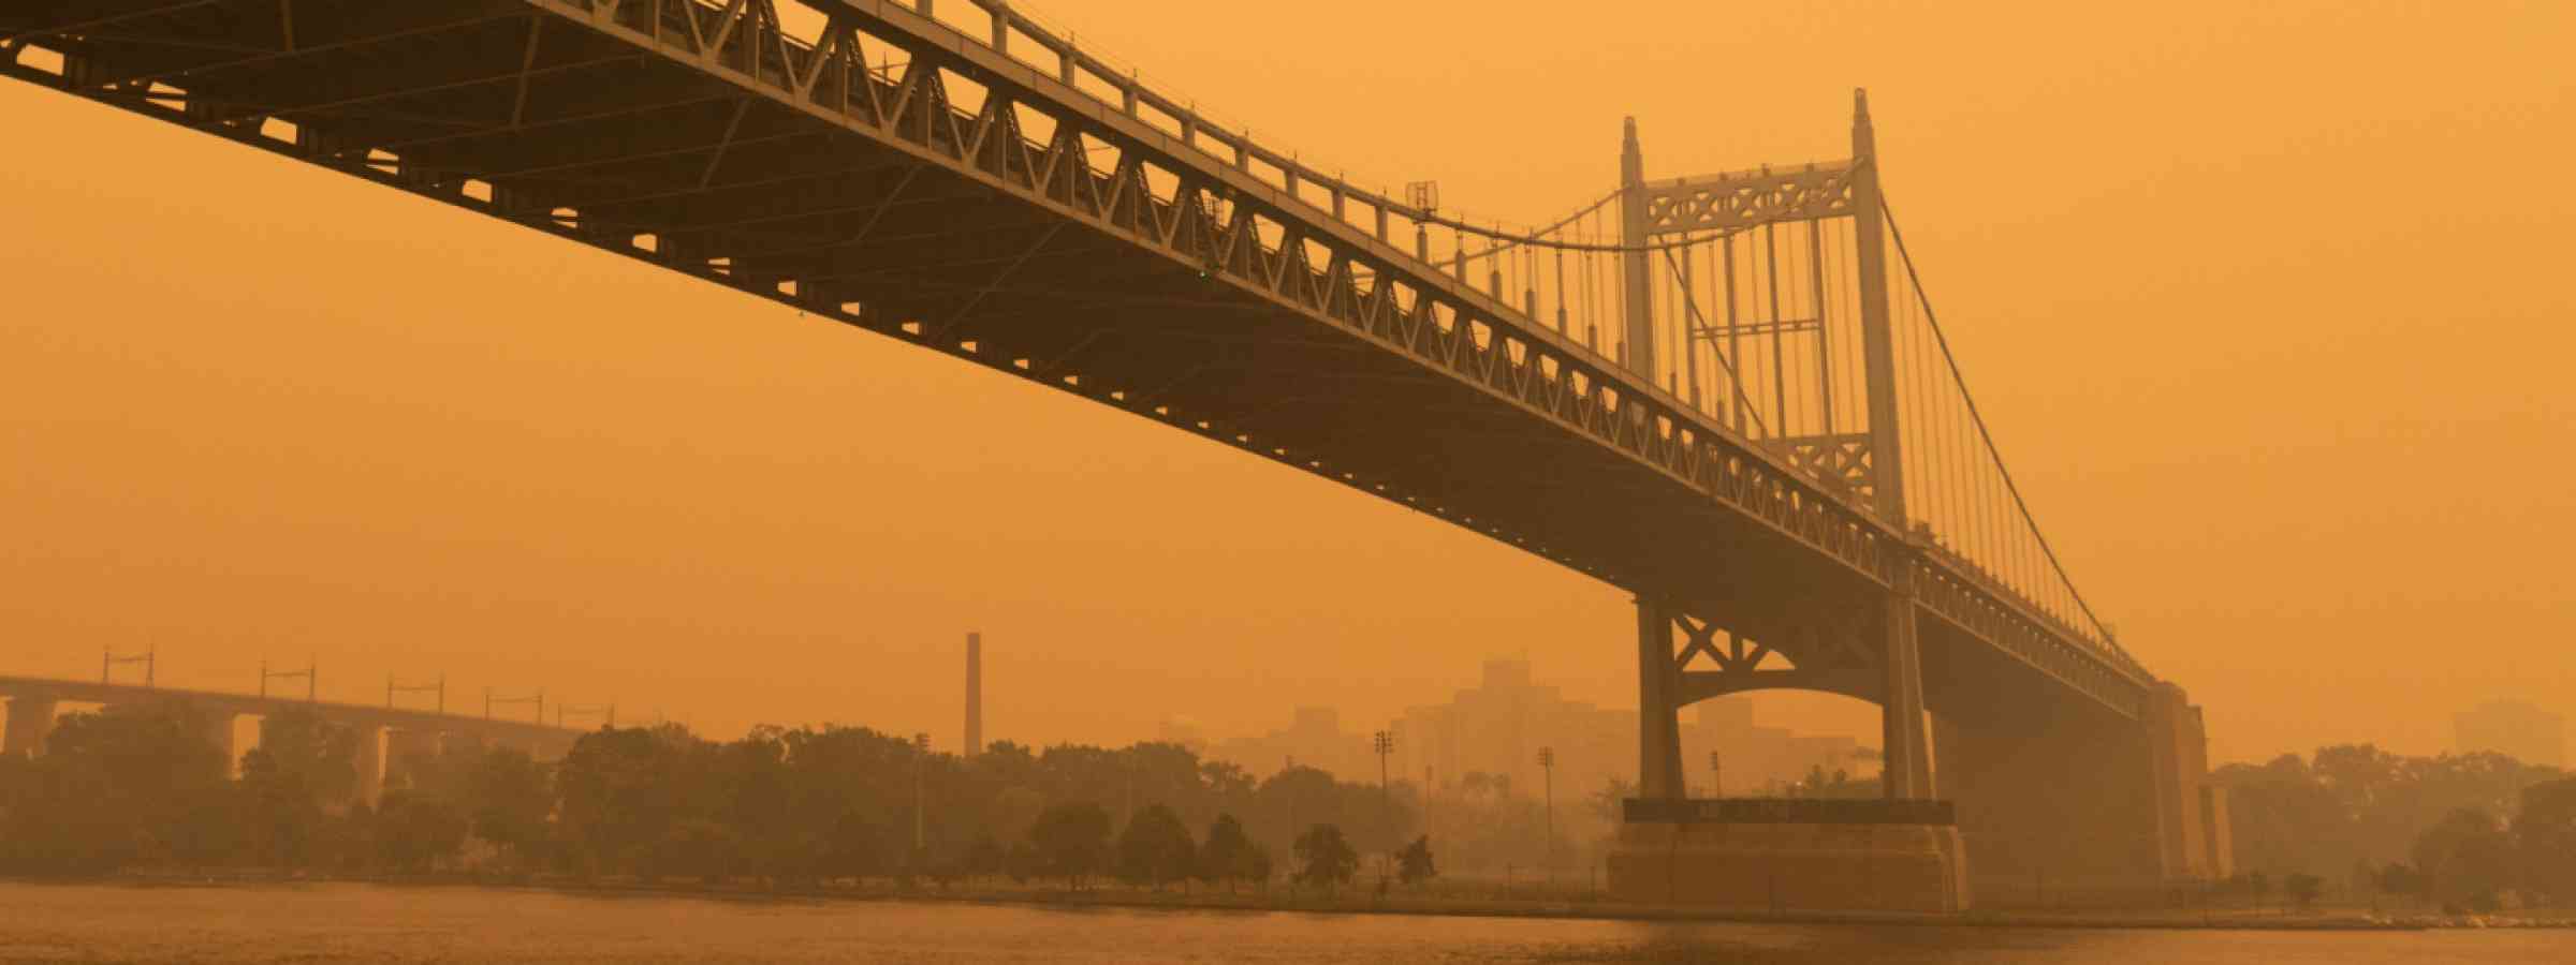
[[[2213,757],[2576,713],[2571,3],[1041,15],[1502,219],[1605,193],[1623,116],[1654,178],[1826,160],[1870,87],[2014,473]],[[953,746],[979,628],[1005,739],[1365,728],[1489,654],[1636,700],[1625,594],[1319,479],[31,85],[0,131],[0,672]]]

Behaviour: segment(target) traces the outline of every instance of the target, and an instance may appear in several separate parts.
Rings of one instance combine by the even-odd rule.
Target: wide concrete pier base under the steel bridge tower
[[[1795,821],[1793,811],[1759,821],[1638,821],[1636,811],[1631,805],[1610,852],[1618,901],[1734,911],[1950,914],[1971,906],[1968,857],[1945,821],[1834,821],[1832,813]]]

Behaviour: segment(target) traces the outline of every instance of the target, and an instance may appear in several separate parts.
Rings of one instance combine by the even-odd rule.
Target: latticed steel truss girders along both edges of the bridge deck
[[[618,39],[636,49],[639,57],[659,57],[698,69],[747,95],[765,98],[793,116],[829,124],[904,154],[914,165],[933,165],[997,196],[1018,198],[1018,203],[1054,219],[1084,226],[1082,234],[1087,237],[1128,242],[1164,262],[1206,273],[1224,291],[1260,299],[1273,309],[1378,345],[1484,399],[1504,401],[1535,417],[1538,425],[1587,440],[1597,450],[1638,466],[1646,473],[1641,479],[1662,479],[1672,492],[1695,494],[1703,504],[1747,520],[1785,543],[1806,546],[1860,582],[1883,587],[1914,556],[1883,522],[1801,479],[1793,466],[1772,453],[1734,437],[1726,427],[1667,399],[1659,389],[1631,381],[1628,373],[1592,358],[1571,340],[1517,319],[1510,306],[1450,280],[1435,265],[1414,262],[1409,255],[1350,224],[1314,219],[1309,206],[1291,193],[1239,167],[1216,162],[1206,152],[1133,116],[1105,108],[1051,75],[961,39],[945,26],[922,21],[912,10],[884,8],[881,15],[837,18],[824,44],[809,49],[791,44],[775,28],[775,15],[762,13],[770,0],[737,0],[726,8],[698,3],[688,18],[698,51],[680,51],[667,41],[662,23],[641,23],[634,15],[634,10],[652,8],[644,0],[626,0],[623,5],[605,0],[523,3],[531,10]],[[670,0],[665,10],[680,3],[685,0]],[[711,15],[724,21],[714,31],[708,31],[714,21],[706,21]],[[907,51],[912,67],[902,77],[881,77],[866,69],[853,57],[858,31]],[[716,39],[708,41],[706,33]],[[520,51],[513,49],[513,54]],[[8,72],[100,95],[100,90],[85,90],[77,82],[80,72],[52,77],[15,64]],[[987,100],[981,111],[966,113],[951,108],[938,90],[940,72],[958,72],[984,85]],[[507,80],[518,82],[520,75],[523,69],[513,69]],[[533,77],[531,82],[546,85],[554,77]],[[461,178],[453,175],[407,170],[399,162],[376,162],[366,152],[317,152],[304,144],[263,139],[258,124],[247,124],[255,118],[196,124],[183,111],[167,106],[131,100],[118,106],[193,124],[242,144],[415,190],[471,211],[507,216],[567,239],[616,250],[848,324],[912,340],[981,365],[1018,371],[1023,378],[1038,378],[1054,389],[1123,407],[1386,499],[1422,504],[1430,497],[1430,502],[1440,502],[1437,492],[1406,492],[1409,486],[1388,486],[1386,479],[1368,479],[1334,466],[1327,453],[1291,453],[1211,419],[1175,414],[1159,404],[1144,407],[1139,404],[1144,396],[1136,394],[1149,386],[1110,386],[1072,373],[1061,363],[1028,365],[1020,358],[1015,365],[1012,353],[1002,345],[940,340],[935,337],[935,327],[907,317],[902,306],[837,301],[829,283],[801,283],[793,273],[762,270],[757,265],[719,265],[716,257],[726,252],[714,250],[685,255],[641,252],[626,244],[623,237],[603,237],[595,229],[585,229],[580,219],[531,216],[526,208],[513,208],[507,198],[469,198]],[[1048,116],[1056,126],[1054,136],[1043,142],[1023,136],[1015,108]],[[1105,144],[1115,154],[1115,165],[1108,170],[1095,167],[1090,162],[1090,147],[1095,144],[1087,142]],[[1157,188],[1149,167],[1164,180],[1177,180],[1177,188]],[[721,183],[708,188],[721,188]],[[1041,378],[1036,371],[1046,376]],[[1530,538],[1530,533],[1520,533],[1520,528],[1486,515],[1476,515],[1471,525],[1463,522],[1468,512],[1450,512],[1448,507],[1430,512],[1507,543],[1528,546]],[[1672,579],[1643,571],[1628,558],[1597,556],[1592,551],[1584,551],[1584,556],[1571,556],[1564,548],[1538,553],[1628,587]],[[1669,587],[1654,587],[1654,592],[1669,592]],[[2092,661],[2094,674],[2112,682],[2110,690],[2143,692],[2148,682],[2143,672],[2102,666],[2099,656],[2089,654],[2081,643],[2071,643],[2063,630],[2038,623],[2027,607],[2009,600],[1991,600],[1991,589],[1976,582],[1958,582],[1955,592],[1960,600],[1950,612],[1958,612],[1953,623],[1960,623],[1963,630],[1989,641],[1996,633],[2045,638],[2063,654]],[[2035,659],[2022,651],[2014,654],[2025,661]],[[2048,656],[2040,654],[2038,659]]]

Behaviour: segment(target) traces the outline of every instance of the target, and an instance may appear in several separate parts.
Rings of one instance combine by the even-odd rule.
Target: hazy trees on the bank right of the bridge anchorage
[[[2372,744],[2226,764],[2236,888],[2354,896],[2450,911],[2576,903],[2576,777],[2504,754],[2401,757]]]

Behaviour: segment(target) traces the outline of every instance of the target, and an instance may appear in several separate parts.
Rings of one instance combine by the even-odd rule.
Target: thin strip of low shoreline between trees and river
[[[549,890],[559,896],[649,896],[703,901],[873,901],[873,903],[958,903],[1023,908],[1115,908],[1115,911],[1244,911],[1244,914],[1368,914],[1368,916],[1445,916],[1445,919],[1556,919],[1556,921],[1664,921],[1664,924],[1865,924],[1865,926],[1950,926],[1950,929],[2138,929],[2138,932],[2442,932],[2442,929],[2576,929],[2576,919],[2555,916],[2439,916],[2331,908],[2324,914],[2280,916],[2259,908],[2221,911],[1757,911],[1628,906],[1610,901],[1548,898],[1443,898],[1443,896],[1283,896],[1283,893],[1149,893],[1131,888],[1054,890],[1054,888],[817,888],[817,885],[690,885],[644,880],[577,878],[479,878],[479,875],[180,875],[124,872],[88,880],[8,878],[28,885],[129,885],[129,888],[240,888],[240,885],[379,885],[379,888],[484,888]]]

